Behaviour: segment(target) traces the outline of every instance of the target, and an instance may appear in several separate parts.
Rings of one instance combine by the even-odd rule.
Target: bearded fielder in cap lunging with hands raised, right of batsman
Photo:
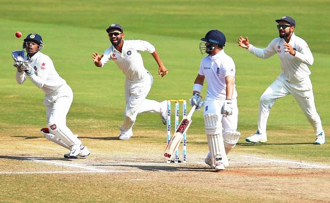
[[[282,73],[264,91],[260,98],[258,130],[247,142],[266,142],[266,124],[269,111],[279,98],[292,94],[309,123],[314,127],[315,144],[323,145],[326,135],[322,128],[321,118],[316,111],[314,93],[309,75],[308,65],[313,65],[314,57],[307,43],[294,33],[296,22],[289,16],[275,20],[278,25],[279,37],[273,39],[265,49],[254,47],[248,37],[240,36],[238,45],[260,58],[269,58],[277,53],[281,60]]]

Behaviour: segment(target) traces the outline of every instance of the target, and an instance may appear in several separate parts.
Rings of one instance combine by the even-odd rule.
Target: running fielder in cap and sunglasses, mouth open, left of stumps
[[[148,51],[159,65],[159,76],[165,76],[168,71],[160,59],[155,47],[143,40],[124,40],[125,33],[121,25],[111,24],[107,29],[112,46],[102,55],[93,53],[94,64],[103,67],[109,60],[113,60],[126,75],[125,95],[126,109],[124,123],[119,128],[120,140],[128,140],[133,136],[132,127],[136,116],[143,112],[156,112],[161,115],[163,124],[166,124],[167,101],[158,102],[146,99],[153,83],[153,77],[143,65],[139,51]]]

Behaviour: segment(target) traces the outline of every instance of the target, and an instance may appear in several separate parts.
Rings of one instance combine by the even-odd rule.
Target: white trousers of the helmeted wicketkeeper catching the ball
[[[43,104],[46,106],[47,123],[55,123],[70,140],[73,140],[72,144],[80,145],[81,141],[66,126],[66,115],[70,109],[72,100],[72,89],[67,84],[64,84],[52,94],[46,94]],[[51,131],[51,129],[49,130]],[[68,146],[70,145],[68,144]]]

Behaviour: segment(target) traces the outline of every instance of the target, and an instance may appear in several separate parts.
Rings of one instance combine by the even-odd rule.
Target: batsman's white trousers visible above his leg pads
[[[206,114],[214,113],[221,119],[223,133],[226,132],[236,132],[237,131],[237,122],[238,122],[238,107],[237,100],[232,99],[232,115],[223,117],[221,114],[221,108],[224,105],[226,100],[214,100],[212,98],[206,98],[204,101],[204,116]]]

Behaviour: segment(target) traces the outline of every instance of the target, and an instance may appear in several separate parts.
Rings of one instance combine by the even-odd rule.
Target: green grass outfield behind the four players
[[[278,36],[274,20],[283,15],[295,18],[296,34],[307,41],[315,58],[310,67],[311,79],[323,127],[329,132],[328,0],[0,0],[0,3],[0,140],[14,139],[11,136],[17,133],[38,135],[38,130],[26,129],[46,125],[44,93],[30,81],[18,85],[12,67],[10,53],[21,49],[28,33],[37,32],[43,37],[42,52],[53,59],[60,76],[73,89],[74,100],[67,118],[72,131],[92,137],[98,137],[99,132],[111,132],[107,137],[115,137],[125,107],[125,76],[113,62],[96,68],[91,57],[92,52],[100,53],[110,46],[105,33],[107,26],[113,22],[122,24],[127,39],[143,39],[156,46],[169,70],[164,78],[157,76],[158,67],[152,56],[142,55],[145,67],[155,79],[148,98],[158,101],[191,97],[203,57],[198,50],[199,39],[216,28],[225,33],[225,51],[236,64],[238,130],[243,134],[234,151],[329,164],[330,145],[312,144],[313,129],[292,96],[276,101],[271,110],[267,144],[245,143],[245,138],[257,128],[259,97],[280,74],[280,63],[277,56],[263,60],[237,46],[237,38],[247,35],[255,46],[266,47]],[[15,31],[21,31],[23,37],[15,38]],[[202,95],[205,90],[204,87]],[[202,112],[195,113],[193,120],[190,135],[204,140],[206,145]],[[143,114],[137,117],[134,130],[143,133],[162,128],[159,115]],[[193,139],[188,141],[198,144]],[[109,142],[111,145],[112,140]],[[165,142],[165,130],[164,136],[155,135],[150,142]],[[0,143],[0,147],[4,144]]]

